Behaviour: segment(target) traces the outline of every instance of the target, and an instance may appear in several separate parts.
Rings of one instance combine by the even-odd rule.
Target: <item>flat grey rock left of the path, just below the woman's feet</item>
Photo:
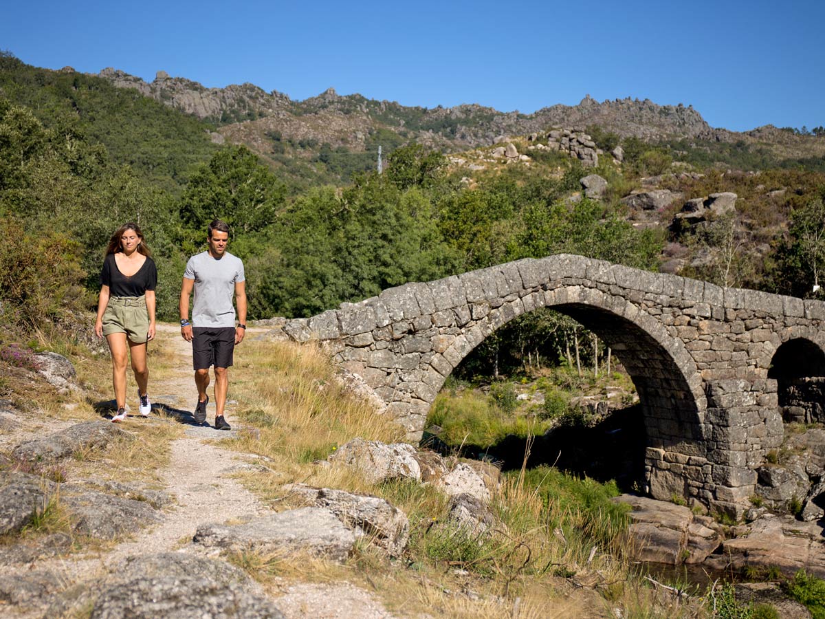
[[[105,447],[118,437],[130,434],[108,421],[86,421],[49,436],[23,442],[12,451],[17,460],[49,462],[71,456],[75,451]]]

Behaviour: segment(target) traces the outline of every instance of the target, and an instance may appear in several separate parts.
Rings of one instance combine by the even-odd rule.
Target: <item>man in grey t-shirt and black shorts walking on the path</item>
[[[214,220],[207,228],[209,248],[189,258],[183,273],[181,286],[181,335],[192,343],[192,359],[195,366],[195,384],[198,403],[195,421],[206,420],[206,404],[209,396],[210,366],[214,366],[214,427],[229,430],[224,415],[226,394],[229,391],[228,368],[232,366],[236,344],[243,342],[247,322],[247,293],[243,262],[226,251],[229,243],[229,226]],[[189,295],[195,291],[192,321],[189,322]],[[238,305],[238,326],[235,326],[235,309]]]

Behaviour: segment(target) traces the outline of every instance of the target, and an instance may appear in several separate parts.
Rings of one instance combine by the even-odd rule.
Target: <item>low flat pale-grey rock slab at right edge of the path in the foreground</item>
[[[200,525],[192,541],[207,548],[283,554],[304,551],[345,560],[356,536],[329,509],[299,508],[253,518],[243,524]]]

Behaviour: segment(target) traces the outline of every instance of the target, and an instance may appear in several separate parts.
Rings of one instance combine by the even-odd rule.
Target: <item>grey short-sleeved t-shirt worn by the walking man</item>
[[[186,262],[183,276],[195,280],[193,327],[235,326],[235,282],[245,279],[240,258],[227,252],[217,260],[209,252],[198,253]]]

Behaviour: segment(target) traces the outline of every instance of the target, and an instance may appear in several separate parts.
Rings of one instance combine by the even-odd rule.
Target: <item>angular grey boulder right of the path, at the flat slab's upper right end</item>
[[[290,484],[287,489],[304,503],[327,508],[353,529],[356,536],[367,537],[391,556],[400,555],[407,547],[410,528],[407,514],[384,499],[304,484]]]

